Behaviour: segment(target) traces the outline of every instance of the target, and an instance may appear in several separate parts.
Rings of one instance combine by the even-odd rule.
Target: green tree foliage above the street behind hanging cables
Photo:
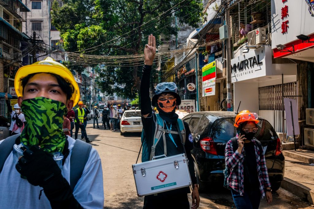
[[[66,51],[89,55],[142,54],[147,36],[166,39],[178,33],[180,23],[197,28],[202,18],[201,0],[65,0],[53,3],[52,24],[60,31]],[[172,8],[174,7],[174,8]],[[171,9],[172,8],[172,9]],[[168,11],[170,9],[170,11]],[[71,60],[75,66],[76,60]],[[84,63],[88,65],[89,63]],[[140,85],[142,62],[110,63],[98,68],[101,91],[135,98]],[[69,64],[71,68],[71,64]],[[158,76],[152,72],[153,79]]]

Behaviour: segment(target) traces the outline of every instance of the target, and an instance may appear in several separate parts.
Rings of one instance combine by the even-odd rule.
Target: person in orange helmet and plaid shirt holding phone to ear
[[[238,134],[225,148],[225,164],[230,170],[227,185],[237,209],[257,209],[261,197],[266,196],[268,204],[273,200],[263,147],[254,138],[257,119],[256,113],[239,113],[234,124]]]

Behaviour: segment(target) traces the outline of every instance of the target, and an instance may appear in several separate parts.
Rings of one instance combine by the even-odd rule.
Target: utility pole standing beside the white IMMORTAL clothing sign
[[[225,19],[228,29],[228,38],[226,39],[226,65],[227,65],[227,111],[233,111],[232,91],[231,91],[231,44],[230,44],[230,11],[225,2]]]

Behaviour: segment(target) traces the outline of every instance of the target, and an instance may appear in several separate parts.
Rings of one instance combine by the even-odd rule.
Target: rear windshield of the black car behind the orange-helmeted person
[[[255,138],[259,141],[269,141],[272,137],[277,138],[277,134],[272,125],[265,120],[259,119],[257,123],[258,131],[255,134]],[[229,141],[230,138],[236,136],[236,127],[234,127],[233,118],[224,118],[216,121],[211,130],[210,136],[212,138],[223,139]]]

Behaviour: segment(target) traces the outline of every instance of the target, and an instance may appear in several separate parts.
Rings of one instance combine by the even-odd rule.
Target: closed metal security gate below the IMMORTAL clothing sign
[[[296,99],[296,82],[284,83],[284,98]],[[285,133],[286,125],[283,129],[282,116],[282,84],[273,86],[264,86],[258,88],[259,110],[273,111],[273,127],[276,132]]]

